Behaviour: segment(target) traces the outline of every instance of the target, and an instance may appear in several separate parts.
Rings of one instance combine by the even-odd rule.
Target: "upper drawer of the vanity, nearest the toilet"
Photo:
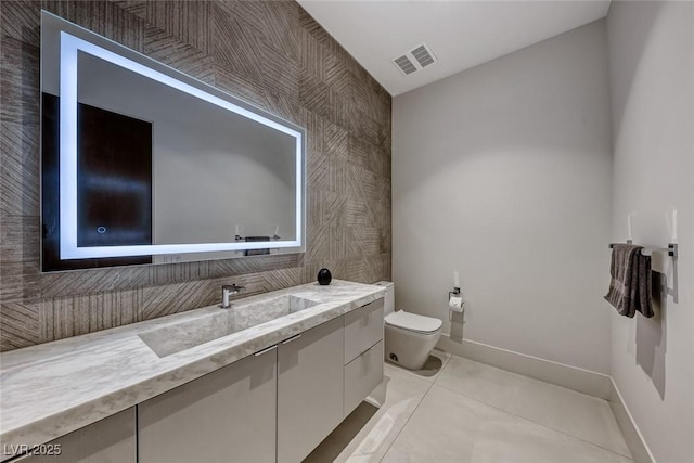
[[[345,313],[345,364],[383,339],[383,299]]]

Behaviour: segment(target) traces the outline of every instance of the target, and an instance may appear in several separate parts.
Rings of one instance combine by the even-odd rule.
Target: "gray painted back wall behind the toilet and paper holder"
[[[394,99],[396,307],[609,372],[611,131],[600,21]]]

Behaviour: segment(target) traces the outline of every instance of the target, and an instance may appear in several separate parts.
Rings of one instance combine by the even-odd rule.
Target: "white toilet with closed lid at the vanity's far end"
[[[386,288],[385,359],[406,369],[421,370],[441,337],[444,322],[404,310],[396,312],[394,283],[381,281],[376,284]]]

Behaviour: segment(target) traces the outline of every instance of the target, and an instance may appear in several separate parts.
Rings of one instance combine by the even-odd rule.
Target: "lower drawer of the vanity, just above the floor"
[[[383,381],[383,339],[345,365],[345,416]]]

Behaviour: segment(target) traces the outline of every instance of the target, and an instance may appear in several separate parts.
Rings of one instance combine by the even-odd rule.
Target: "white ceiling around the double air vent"
[[[604,17],[609,0],[298,0],[398,95]],[[391,62],[426,42],[438,62],[404,76]]]

